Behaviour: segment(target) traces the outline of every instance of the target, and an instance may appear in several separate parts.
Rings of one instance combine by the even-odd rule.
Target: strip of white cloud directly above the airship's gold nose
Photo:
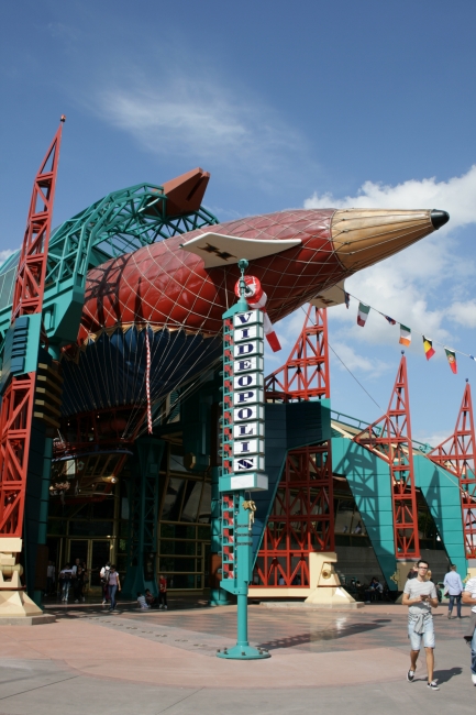
[[[476,221],[475,196],[476,164],[463,176],[454,176],[447,182],[436,182],[435,177],[409,179],[397,186],[365,182],[356,196],[342,199],[332,194],[314,194],[306,199],[305,208],[442,209],[449,211],[449,228],[454,229]]]

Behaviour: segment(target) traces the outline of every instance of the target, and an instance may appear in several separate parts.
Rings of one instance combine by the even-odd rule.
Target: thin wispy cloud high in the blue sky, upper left
[[[210,73],[193,77],[132,73],[120,86],[101,88],[90,110],[132,134],[147,151],[185,155],[189,161],[246,167],[269,174],[308,163],[303,139],[258,98],[233,90]]]

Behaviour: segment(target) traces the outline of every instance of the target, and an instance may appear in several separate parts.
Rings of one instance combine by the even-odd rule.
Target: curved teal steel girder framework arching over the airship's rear
[[[156,241],[219,223],[203,207],[169,217],[166,205],[162,186],[137,184],[108,194],[55,230],[49,241],[43,301],[49,342],[67,344],[76,340],[86,275],[91,267]],[[9,319],[7,307],[0,312],[0,331]]]

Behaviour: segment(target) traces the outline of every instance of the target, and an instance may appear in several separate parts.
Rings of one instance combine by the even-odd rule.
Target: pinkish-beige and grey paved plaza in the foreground
[[[235,641],[236,609],[181,608],[141,613],[132,605],[53,606],[51,625],[0,627],[0,715],[140,713],[474,713],[469,649],[462,620],[435,615],[435,678],[424,658],[406,681],[406,608],[373,604],[352,612],[250,606],[250,640],[272,658],[236,662],[215,657]],[[435,701],[435,702],[433,702]]]

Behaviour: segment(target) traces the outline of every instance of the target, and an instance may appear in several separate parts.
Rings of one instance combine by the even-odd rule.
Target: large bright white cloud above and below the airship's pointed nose
[[[305,207],[447,210],[451,221],[446,227],[401,253],[351,276],[346,280],[346,288],[364,302],[409,326],[413,331],[411,350],[421,351],[418,333],[457,349],[457,327],[476,327],[472,279],[475,255],[472,245],[465,245],[460,237],[455,237],[454,229],[476,221],[475,195],[476,165],[463,176],[447,182],[410,179],[397,186],[365,182],[356,196],[342,199],[314,194],[305,201]],[[466,295],[468,299],[462,299]],[[345,337],[354,344],[398,343],[398,324],[389,326],[385,318],[370,311],[365,328],[359,328],[356,324],[356,310],[355,300],[351,300],[350,310],[344,306],[331,309],[331,320],[341,323],[341,339]],[[462,350],[464,348],[461,346]],[[444,358],[442,351],[436,354]],[[355,369],[365,371],[365,366],[358,362]]]

